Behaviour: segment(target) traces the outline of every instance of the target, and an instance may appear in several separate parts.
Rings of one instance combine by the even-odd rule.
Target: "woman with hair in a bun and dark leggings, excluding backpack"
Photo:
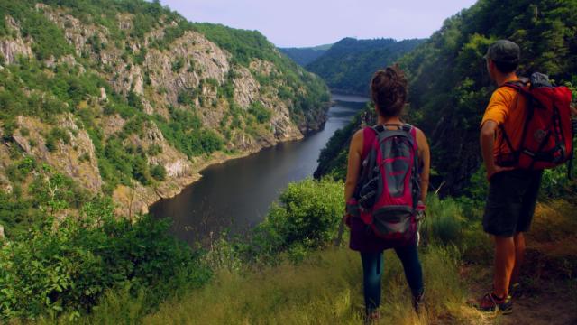
[[[378,124],[387,129],[400,129],[404,123],[400,119],[407,99],[407,80],[398,65],[379,70],[371,80],[371,98],[375,105]],[[421,130],[416,130],[417,151],[420,163],[420,200],[425,202],[430,169],[430,153],[426,137]],[[362,161],[371,148],[376,133],[365,127],[353,135],[349,149],[347,177],[345,184],[345,201],[354,194]],[[413,305],[418,311],[423,300],[423,273],[417,255],[417,236],[406,246],[391,246],[385,240],[377,237],[371,228],[367,228],[361,218],[346,214],[345,223],[351,228],[350,248],[361,253],[362,277],[365,312],[367,320],[379,318],[380,277],[382,274],[383,250],[394,248],[403,264],[405,275],[411,292]]]

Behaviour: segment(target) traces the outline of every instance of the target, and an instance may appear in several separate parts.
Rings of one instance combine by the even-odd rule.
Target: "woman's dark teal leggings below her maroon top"
[[[408,286],[414,297],[423,292],[423,270],[418,260],[417,246],[395,248],[403,268]],[[362,259],[362,287],[364,304],[367,312],[374,311],[380,306],[380,277],[382,274],[382,251],[378,253],[361,252]]]

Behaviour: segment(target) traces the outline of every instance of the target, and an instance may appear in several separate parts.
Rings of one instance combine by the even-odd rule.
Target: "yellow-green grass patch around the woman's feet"
[[[385,255],[383,323],[474,324],[481,315],[468,307],[455,249],[429,246],[421,260],[428,312],[418,317],[402,267]],[[358,253],[327,249],[299,265],[246,274],[221,273],[215,282],[178,301],[165,302],[144,324],[358,324],[362,321],[362,270]]]

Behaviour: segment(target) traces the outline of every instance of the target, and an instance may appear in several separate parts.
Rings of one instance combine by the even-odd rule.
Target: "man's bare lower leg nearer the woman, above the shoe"
[[[493,293],[499,298],[508,295],[508,283],[515,267],[514,237],[495,236],[495,273],[493,275]]]

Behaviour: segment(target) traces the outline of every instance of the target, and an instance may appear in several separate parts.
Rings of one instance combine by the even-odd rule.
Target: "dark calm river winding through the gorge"
[[[325,127],[303,140],[278,144],[249,156],[215,164],[172,199],[151,206],[155,218],[171,218],[171,231],[193,245],[227,230],[243,234],[262,221],[291,181],[312,176],[316,160],[336,130],[347,125],[368,98],[333,94]]]

